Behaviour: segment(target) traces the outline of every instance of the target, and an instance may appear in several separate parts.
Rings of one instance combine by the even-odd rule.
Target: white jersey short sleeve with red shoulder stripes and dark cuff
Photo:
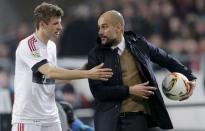
[[[20,42],[16,55],[24,63],[26,63],[33,72],[36,72],[41,65],[48,62],[47,59],[42,56],[38,47],[35,45],[35,41]]]

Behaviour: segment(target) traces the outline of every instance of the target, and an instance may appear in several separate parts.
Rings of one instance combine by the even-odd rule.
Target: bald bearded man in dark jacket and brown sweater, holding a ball
[[[124,19],[117,11],[108,11],[98,19],[99,41],[88,57],[88,68],[103,62],[112,68],[108,81],[90,80],[96,102],[96,131],[147,131],[151,127],[172,129],[172,123],[152,69],[151,62],[180,72],[188,79],[192,95],[196,77],[191,70],[144,37],[124,33]]]

